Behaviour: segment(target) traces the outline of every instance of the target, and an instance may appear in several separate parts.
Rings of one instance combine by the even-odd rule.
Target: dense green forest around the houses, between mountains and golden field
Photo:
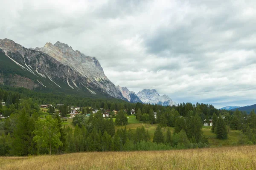
[[[224,111],[212,105],[180,103],[173,107],[129,103],[118,99],[90,99],[82,96],[41,93],[24,88],[1,86],[0,156],[61,154],[84,151],[170,150],[209,147],[202,133],[204,122],[212,122],[212,133],[227,139],[231,129],[241,130],[239,144],[256,144],[256,114]],[[63,125],[54,108],[47,113],[39,105],[63,104],[58,109],[67,116],[70,106],[81,107],[81,115],[73,118],[75,128]],[[100,109],[92,113],[94,109]],[[126,129],[127,115],[135,110],[136,119],[157,124],[153,139],[145,128]],[[116,110],[103,118],[105,110]],[[154,117],[156,112],[156,117]],[[90,114],[87,114],[90,113]],[[115,118],[115,121],[112,119]],[[122,126],[116,129],[115,127]],[[169,127],[174,127],[171,133]]]

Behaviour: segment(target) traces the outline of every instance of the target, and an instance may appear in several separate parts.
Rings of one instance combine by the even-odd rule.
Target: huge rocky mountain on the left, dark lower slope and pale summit
[[[28,49],[0,39],[0,84],[127,100],[95,57],[61,42]]]

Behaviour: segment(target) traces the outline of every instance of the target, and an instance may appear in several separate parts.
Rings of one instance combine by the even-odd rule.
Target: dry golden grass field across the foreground
[[[256,170],[256,146],[0,157],[0,170]]]

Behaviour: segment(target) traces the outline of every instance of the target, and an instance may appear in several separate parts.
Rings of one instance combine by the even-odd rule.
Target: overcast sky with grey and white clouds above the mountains
[[[255,0],[0,0],[0,38],[64,42],[115,84],[175,102],[256,103]]]

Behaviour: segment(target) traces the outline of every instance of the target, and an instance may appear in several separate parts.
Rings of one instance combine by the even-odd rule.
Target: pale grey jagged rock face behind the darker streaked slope
[[[105,93],[118,99],[125,99],[116,86],[106,77],[103,68],[95,57],[85,56],[80,51],[74,51],[67,44],[47,42],[43,48],[35,48],[53,57],[63,65],[67,65],[87,78],[87,82],[101,88]]]

